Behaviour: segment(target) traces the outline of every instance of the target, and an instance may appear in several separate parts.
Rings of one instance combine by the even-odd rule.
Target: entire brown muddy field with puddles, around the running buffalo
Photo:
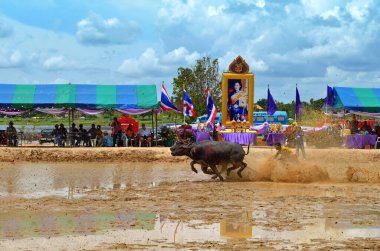
[[[274,154],[219,182],[166,148],[1,148],[0,249],[380,249],[380,151]]]

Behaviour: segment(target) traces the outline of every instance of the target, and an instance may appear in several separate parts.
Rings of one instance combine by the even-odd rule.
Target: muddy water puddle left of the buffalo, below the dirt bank
[[[195,175],[188,164],[170,163],[16,163],[0,167],[0,197],[92,198],[94,190],[158,186],[161,182],[209,179]],[[99,199],[106,197],[99,197]]]

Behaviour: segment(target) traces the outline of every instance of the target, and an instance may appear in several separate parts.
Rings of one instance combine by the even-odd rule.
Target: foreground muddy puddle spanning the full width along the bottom
[[[364,216],[371,215],[367,212]],[[234,242],[264,242],[266,247],[298,249],[342,240],[378,239],[380,216],[371,224],[340,221],[334,217],[314,218],[300,223],[301,229],[284,230],[251,224],[265,220],[265,210],[240,212],[235,217],[209,223],[201,220],[173,221],[151,212],[12,212],[0,215],[0,247],[40,249],[50,240],[55,249],[143,248],[144,250],[208,247],[219,250]],[[321,242],[321,243],[320,243]],[[121,246],[120,246],[121,245]],[[206,245],[206,246],[203,246]],[[214,248],[214,249],[213,249]]]

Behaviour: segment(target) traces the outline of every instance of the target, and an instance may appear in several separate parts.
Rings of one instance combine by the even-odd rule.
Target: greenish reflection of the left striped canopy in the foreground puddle
[[[86,235],[109,229],[153,230],[149,212],[8,212],[0,214],[0,239]]]

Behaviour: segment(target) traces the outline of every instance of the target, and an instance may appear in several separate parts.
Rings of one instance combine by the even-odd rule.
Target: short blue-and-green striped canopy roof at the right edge
[[[333,88],[333,108],[350,113],[380,113],[380,88]]]

